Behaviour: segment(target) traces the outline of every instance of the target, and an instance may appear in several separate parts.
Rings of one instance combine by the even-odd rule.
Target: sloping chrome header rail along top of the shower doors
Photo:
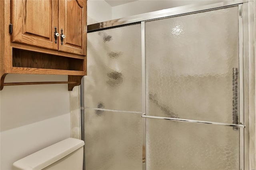
[[[91,24],[87,26],[88,32],[94,32],[103,28],[110,28],[116,26],[122,26],[126,24],[133,24],[142,21],[154,20],[158,18],[165,18],[171,16],[177,16],[182,14],[188,14],[192,12],[210,10],[214,8],[221,8],[224,6],[231,6],[236,4],[242,4],[248,2],[248,0],[214,0],[214,1],[205,1],[198,4],[190,4],[185,6],[178,6],[174,8],[168,8],[164,10],[158,10],[154,12],[148,12],[145,14],[138,14],[134,16],[129,16],[125,18],[119,18],[115,20],[100,22],[96,24]]]

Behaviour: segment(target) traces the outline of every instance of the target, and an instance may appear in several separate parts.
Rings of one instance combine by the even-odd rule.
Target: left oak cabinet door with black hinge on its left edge
[[[58,1],[13,0],[12,42],[58,49],[54,27],[58,26]]]

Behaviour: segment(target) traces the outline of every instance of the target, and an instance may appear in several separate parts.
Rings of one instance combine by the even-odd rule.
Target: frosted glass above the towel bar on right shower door
[[[233,123],[238,7],[154,20],[145,30],[147,115]]]

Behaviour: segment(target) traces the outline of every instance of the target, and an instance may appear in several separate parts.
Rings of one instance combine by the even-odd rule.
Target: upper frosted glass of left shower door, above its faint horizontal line
[[[140,24],[88,33],[85,106],[141,111]]]

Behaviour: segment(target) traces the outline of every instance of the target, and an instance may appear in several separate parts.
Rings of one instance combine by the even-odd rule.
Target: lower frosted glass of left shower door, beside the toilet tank
[[[85,110],[86,170],[141,170],[141,114]]]

